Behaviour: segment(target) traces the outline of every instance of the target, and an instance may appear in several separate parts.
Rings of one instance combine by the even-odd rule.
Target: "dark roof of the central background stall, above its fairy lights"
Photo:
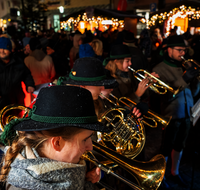
[[[66,21],[70,17],[77,17],[78,15],[82,15],[83,13],[87,12],[86,9],[82,9],[80,11],[74,12],[72,14],[67,15],[66,17],[63,17],[60,19],[60,21]],[[118,19],[124,19],[124,18],[144,18],[138,15],[130,14],[128,12],[123,11],[117,11],[117,10],[109,10],[109,9],[100,9],[100,8],[92,8],[92,14],[94,16],[104,16],[108,18],[118,18]]]

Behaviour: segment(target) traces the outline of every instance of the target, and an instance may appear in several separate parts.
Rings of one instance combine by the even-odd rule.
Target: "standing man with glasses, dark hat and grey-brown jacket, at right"
[[[193,97],[199,92],[199,82],[196,79],[199,71],[194,67],[184,71],[182,67],[181,57],[185,55],[186,50],[182,36],[171,36],[167,43],[164,60],[153,68],[153,71],[160,76],[160,80],[174,89],[181,87],[175,97],[169,93],[161,97],[162,114],[172,116],[165,132],[162,153],[166,161],[171,155],[172,166],[169,178],[180,186],[186,186],[186,182],[179,175],[179,165],[190,129],[190,109],[194,104]]]

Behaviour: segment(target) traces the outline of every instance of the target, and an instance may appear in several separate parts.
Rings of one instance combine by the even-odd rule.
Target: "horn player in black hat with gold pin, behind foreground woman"
[[[96,114],[101,113],[99,95],[105,88],[114,89],[118,82],[111,75],[108,75],[101,61],[97,58],[84,57],[77,59],[68,78],[60,78],[58,84],[77,85],[86,88],[92,93]],[[102,108],[103,109],[103,108]],[[136,109],[134,112],[136,113]],[[136,114],[139,111],[137,111]]]

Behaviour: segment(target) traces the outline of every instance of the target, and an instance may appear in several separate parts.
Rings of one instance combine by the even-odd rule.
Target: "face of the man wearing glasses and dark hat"
[[[172,47],[168,48],[168,55],[172,59],[175,59],[177,61],[182,61],[181,56],[185,55],[186,48],[185,47]]]

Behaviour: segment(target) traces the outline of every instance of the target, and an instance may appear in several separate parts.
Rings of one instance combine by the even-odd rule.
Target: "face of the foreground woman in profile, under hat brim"
[[[77,164],[83,153],[93,149],[91,136],[93,131],[83,130],[72,139],[64,142],[58,161]]]

